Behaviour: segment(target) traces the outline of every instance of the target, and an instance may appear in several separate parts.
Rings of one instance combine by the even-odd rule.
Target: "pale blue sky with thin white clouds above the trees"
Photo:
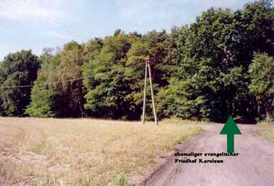
[[[208,8],[238,10],[253,0],[0,0],[0,61],[10,52],[79,43],[124,32],[170,30]]]

